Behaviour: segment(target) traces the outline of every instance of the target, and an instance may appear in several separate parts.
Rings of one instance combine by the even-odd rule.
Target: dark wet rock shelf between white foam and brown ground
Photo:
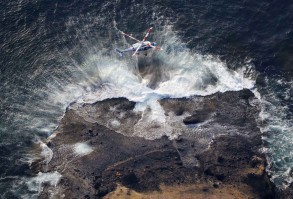
[[[56,136],[47,142],[54,156],[41,170],[62,174],[60,198],[109,198],[117,185],[135,193],[156,192],[162,184],[198,185],[195,198],[196,193],[220,194],[216,189],[274,198],[266,159],[259,153],[259,109],[253,99],[243,90],[161,100],[166,117],[177,118],[173,140],[133,136],[142,113],[124,98],[68,109]],[[115,119],[116,125],[109,123]],[[202,183],[210,187],[204,189]],[[42,195],[49,191],[45,187]]]

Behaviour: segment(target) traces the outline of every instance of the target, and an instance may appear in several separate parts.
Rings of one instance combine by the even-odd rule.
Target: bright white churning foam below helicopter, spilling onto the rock
[[[154,52],[150,57],[121,59],[116,54],[103,55],[102,52],[88,55],[82,65],[71,66],[71,71],[79,72],[80,81],[65,84],[62,90],[56,89],[49,99],[56,104],[67,102],[63,107],[76,102],[71,106],[76,108],[84,103],[124,97],[136,102],[135,111],[143,113],[133,136],[157,139],[166,135],[174,139],[179,133],[172,131],[158,100],[254,87],[249,63],[237,71],[229,70],[217,57],[189,50],[170,27],[157,32],[156,37],[165,50]],[[119,125],[119,121],[114,121],[114,125]],[[149,130],[158,125],[161,128]]]

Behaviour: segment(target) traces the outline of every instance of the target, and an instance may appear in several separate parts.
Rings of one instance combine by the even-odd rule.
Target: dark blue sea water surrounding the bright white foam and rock
[[[281,187],[290,182],[291,1],[5,0],[0,9],[3,198],[27,194],[25,187],[22,191],[9,189],[29,176],[27,150],[35,140],[50,135],[65,107],[79,96],[75,89],[63,98],[51,94],[56,90],[65,93],[65,85],[78,81],[79,74],[91,72],[69,66],[82,65],[87,54],[113,54],[121,44],[117,28],[142,37],[150,26],[161,33],[171,26],[191,51],[217,56],[232,70],[251,60],[258,73],[256,87],[263,101],[260,124],[273,181]],[[87,91],[99,84],[78,86]]]

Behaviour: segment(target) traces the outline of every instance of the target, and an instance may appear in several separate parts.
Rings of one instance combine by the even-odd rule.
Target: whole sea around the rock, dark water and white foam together
[[[1,198],[36,198],[43,183],[57,184],[58,172],[32,175],[28,165],[52,155],[41,141],[72,102],[126,97],[164,122],[158,99],[245,88],[261,107],[271,180],[280,189],[293,181],[292,1],[4,0],[0,11]],[[119,30],[140,39],[149,27],[163,50],[147,68],[115,53],[132,44]]]

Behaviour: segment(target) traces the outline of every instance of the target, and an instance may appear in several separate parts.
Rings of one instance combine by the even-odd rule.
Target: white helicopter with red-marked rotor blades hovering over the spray
[[[130,48],[127,48],[125,50],[120,50],[118,48],[116,48],[116,52],[122,57],[124,55],[124,53],[127,53],[127,52],[134,52],[132,54],[132,56],[135,56],[135,55],[138,55],[139,53],[138,52],[141,52],[143,51],[144,55],[147,56],[147,51],[150,50],[150,49],[156,49],[156,50],[163,50],[160,46],[158,46],[158,44],[156,42],[149,42],[149,41],[146,41],[147,37],[150,35],[151,31],[153,30],[152,27],[150,27],[148,30],[147,30],[147,33],[146,35],[144,36],[143,40],[140,41],[134,37],[132,37],[131,35],[129,34],[126,34],[122,31],[119,31],[120,33],[122,33],[124,36],[127,36],[135,41],[137,41],[137,43],[131,45]]]

